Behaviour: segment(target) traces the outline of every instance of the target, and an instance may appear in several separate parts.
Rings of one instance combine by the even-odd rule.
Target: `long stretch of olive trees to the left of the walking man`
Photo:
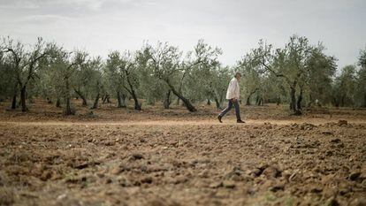
[[[42,38],[27,47],[11,38],[1,44],[2,99],[11,98],[11,109],[16,109],[20,96],[22,111],[33,96],[42,96],[60,107],[65,103],[65,114],[74,113],[71,98],[78,97],[92,109],[99,100],[118,100],[118,107],[126,107],[132,98],[134,109],[141,110],[141,99],[154,104],[163,101],[170,108],[173,96],[189,111],[196,111],[195,102],[214,99],[217,107],[224,100],[225,84],[230,69],[222,67],[217,57],[221,50],[200,40],[194,50],[183,53],[167,43],[156,46],[144,43],[141,50],[112,51],[107,59],[90,57],[86,51],[67,51],[56,43],[45,43]],[[200,82],[200,83],[198,83]],[[20,92],[20,95],[19,95]]]

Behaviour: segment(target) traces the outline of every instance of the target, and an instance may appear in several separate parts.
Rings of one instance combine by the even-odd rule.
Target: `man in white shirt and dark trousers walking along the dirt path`
[[[221,118],[224,117],[227,111],[232,110],[233,105],[235,107],[235,115],[236,115],[236,122],[237,123],[245,123],[240,118],[240,110],[239,110],[239,97],[240,97],[240,88],[239,88],[239,81],[241,78],[241,73],[236,72],[235,76],[232,80],[230,80],[229,87],[227,88],[226,92],[226,99],[229,100],[229,103],[224,111],[217,116],[218,121],[221,121]]]

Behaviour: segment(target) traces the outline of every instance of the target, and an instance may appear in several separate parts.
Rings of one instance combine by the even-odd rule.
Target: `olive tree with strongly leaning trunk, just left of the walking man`
[[[149,66],[156,78],[166,83],[172,90],[172,94],[184,103],[188,111],[197,111],[189,98],[183,94],[184,80],[195,73],[194,69],[204,70],[215,66],[217,56],[221,51],[211,48],[202,40],[194,47],[194,51],[187,53],[185,59],[182,59],[182,52],[178,47],[170,46],[167,43],[159,42],[156,47],[146,44],[143,50],[146,50],[147,52],[144,53],[149,55]],[[192,78],[192,76],[190,77]],[[197,81],[193,88],[195,87],[198,87]]]

